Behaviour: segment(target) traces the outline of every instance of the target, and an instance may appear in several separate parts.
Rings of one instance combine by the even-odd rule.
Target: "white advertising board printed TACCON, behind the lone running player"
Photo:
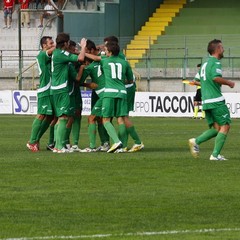
[[[130,116],[192,117],[195,92],[137,92]],[[224,93],[232,118],[240,117],[240,94]]]

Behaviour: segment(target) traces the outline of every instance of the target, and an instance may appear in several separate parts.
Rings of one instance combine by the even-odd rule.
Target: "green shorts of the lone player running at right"
[[[231,123],[230,112],[227,105],[220,105],[217,108],[207,109],[205,110],[205,113],[209,127],[211,127],[215,122],[219,126]]]

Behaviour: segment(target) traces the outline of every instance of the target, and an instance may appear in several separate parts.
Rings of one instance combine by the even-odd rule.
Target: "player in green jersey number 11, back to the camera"
[[[105,76],[105,89],[102,102],[103,123],[114,144],[108,153],[122,148],[120,139],[126,138],[126,126],[124,118],[128,116],[127,91],[125,80],[133,81],[133,73],[129,63],[120,58],[120,48],[116,42],[107,42],[105,52],[108,56],[101,60],[101,66]],[[119,137],[110,119],[117,118]]]

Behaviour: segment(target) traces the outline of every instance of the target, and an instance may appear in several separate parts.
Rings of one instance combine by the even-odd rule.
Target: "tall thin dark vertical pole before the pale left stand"
[[[22,90],[22,32],[21,32],[21,9],[18,11],[18,90]]]

